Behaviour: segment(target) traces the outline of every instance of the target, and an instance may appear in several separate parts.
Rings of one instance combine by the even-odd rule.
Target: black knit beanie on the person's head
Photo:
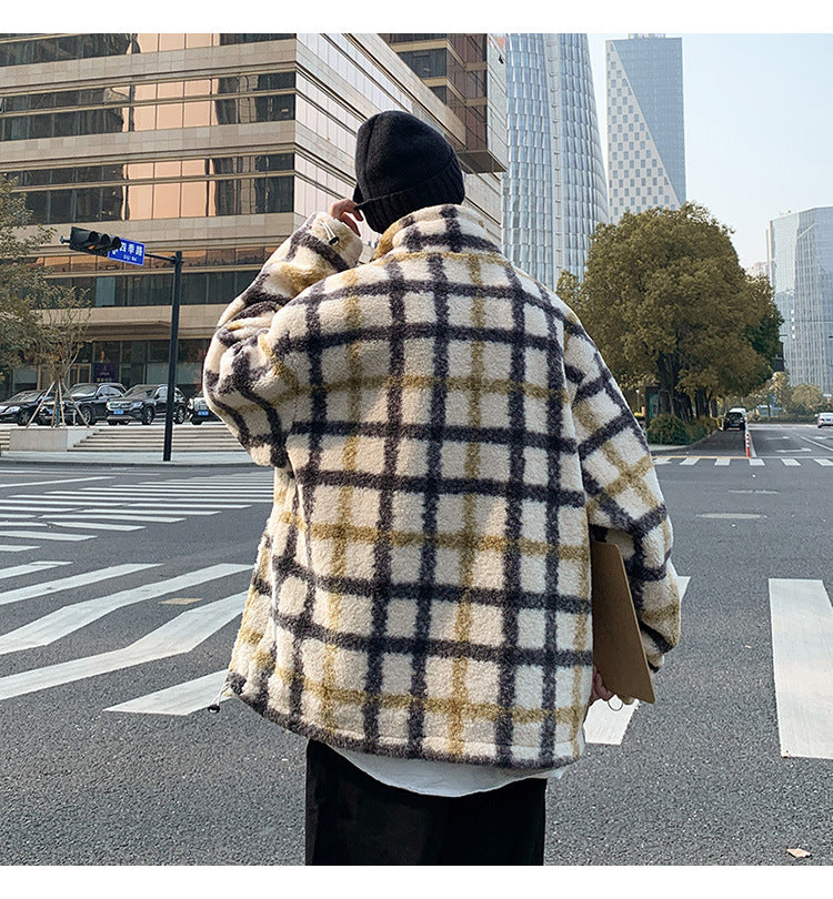
[[[380,112],[361,124],[355,180],[353,200],[380,234],[409,212],[465,198],[451,144],[408,112]]]

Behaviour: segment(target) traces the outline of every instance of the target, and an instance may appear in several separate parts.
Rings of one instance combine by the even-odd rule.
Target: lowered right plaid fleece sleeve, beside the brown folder
[[[573,315],[564,361],[591,535],[619,546],[642,644],[656,670],[680,638],[671,522],[642,428]]]

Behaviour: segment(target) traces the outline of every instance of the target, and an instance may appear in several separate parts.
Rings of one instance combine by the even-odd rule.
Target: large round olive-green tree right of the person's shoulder
[[[559,281],[620,384],[659,384],[660,411],[684,421],[772,373],[781,316],[730,234],[695,203],[625,213],[596,228],[584,280]]]

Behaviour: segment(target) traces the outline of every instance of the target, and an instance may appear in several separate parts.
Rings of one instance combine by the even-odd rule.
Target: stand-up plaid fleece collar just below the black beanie
[[[471,209],[446,203],[404,215],[382,234],[373,260],[392,251],[415,253],[435,252],[485,252],[500,253],[486,235],[483,220]]]

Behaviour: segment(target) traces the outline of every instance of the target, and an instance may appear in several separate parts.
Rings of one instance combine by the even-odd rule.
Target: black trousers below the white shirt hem
[[[389,787],[307,746],[307,865],[543,865],[546,781],[470,796]]]

